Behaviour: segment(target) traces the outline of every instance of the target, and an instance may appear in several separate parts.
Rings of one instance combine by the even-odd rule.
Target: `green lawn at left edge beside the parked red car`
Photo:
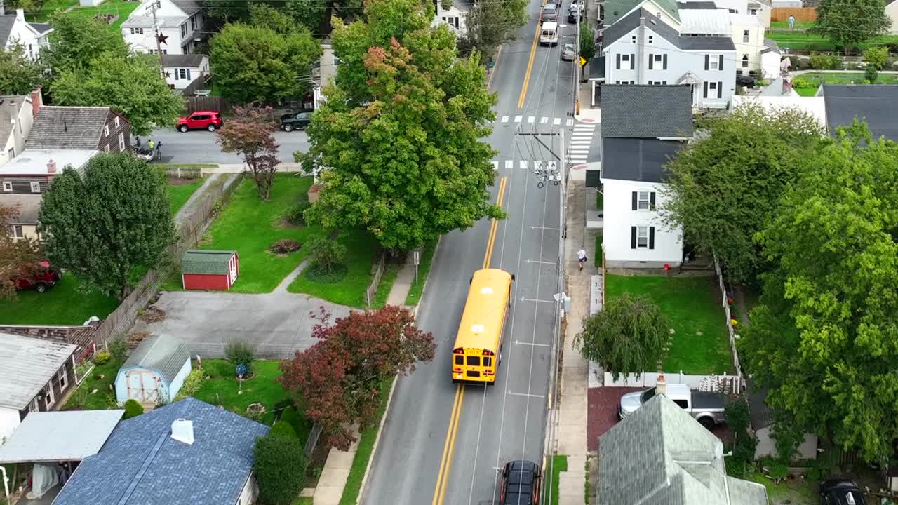
[[[81,324],[92,315],[104,319],[119,306],[115,297],[81,292],[81,286],[79,279],[64,272],[56,286],[44,293],[19,291],[16,301],[0,303],[0,323]]]

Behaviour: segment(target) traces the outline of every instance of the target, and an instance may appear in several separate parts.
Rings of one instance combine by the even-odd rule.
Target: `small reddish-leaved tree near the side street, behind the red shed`
[[[234,116],[218,130],[216,142],[225,153],[243,156],[243,163],[252,171],[259,198],[268,201],[277,164],[280,163],[275,137],[271,135],[271,108],[254,105],[237,107]]]

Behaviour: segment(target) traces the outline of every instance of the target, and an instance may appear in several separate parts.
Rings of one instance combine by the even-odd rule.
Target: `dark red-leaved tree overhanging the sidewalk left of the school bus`
[[[332,325],[323,307],[312,316],[321,322],[312,330],[319,341],[281,362],[283,374],[277,380],[302,398],[305,415],[321,426],[328,443],[347,450],[355,441],[350,424],[358,422],[364,430],[377,421],[377,399],[386,380],[409,374],[418,361],[434,359],[436,344],[433,334],[418,330],[415,318],[401,306],[353,311]]]

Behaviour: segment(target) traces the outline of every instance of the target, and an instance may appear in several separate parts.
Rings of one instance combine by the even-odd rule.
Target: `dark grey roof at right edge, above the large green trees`
[[[898,142],[898,84],[823,84],[823,102],[830,135],[858,118],[867,121],[873,137]]]

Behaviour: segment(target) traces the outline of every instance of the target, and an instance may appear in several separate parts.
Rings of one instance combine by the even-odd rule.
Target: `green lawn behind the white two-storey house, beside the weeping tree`
[[[647,295],[670,319],[674,343],[664,359],[665,372],[722,374],[733,368],[720,292],[713,277],[609,275],[605,290],[606,300],[624,292]]]

